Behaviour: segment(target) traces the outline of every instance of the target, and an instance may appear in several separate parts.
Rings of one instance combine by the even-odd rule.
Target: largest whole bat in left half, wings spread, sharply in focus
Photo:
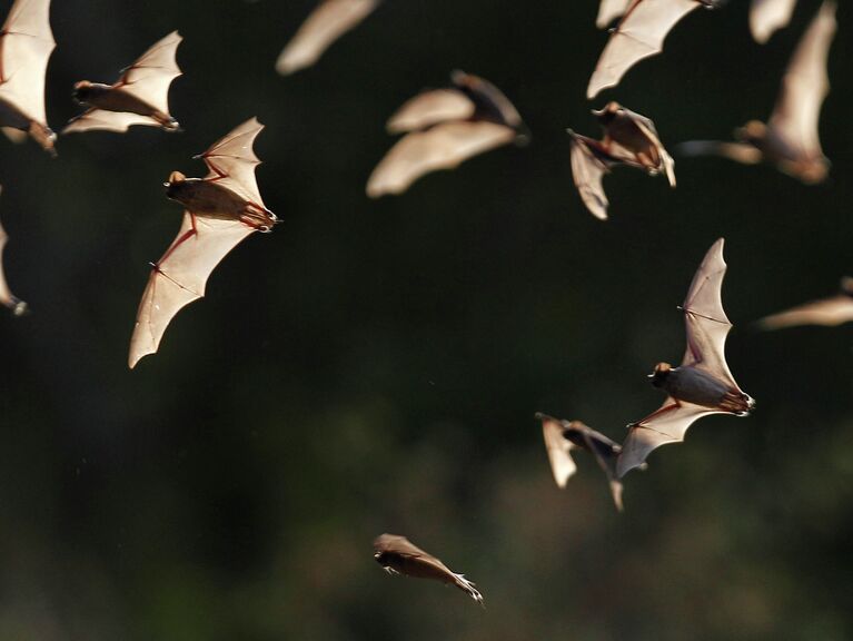
[[[166,327],[185,306],[205,295],[210,273],[238,243],[254,231],[270,231],[278,221],[266,208],[255,179],[260,160],[252,145],[264,126],[257,118],[196,156],[207,165],[205,178],[172,171],[166,196],[185,207],[178,236],[152,265],[130,338],[128,364],[153,354]]]

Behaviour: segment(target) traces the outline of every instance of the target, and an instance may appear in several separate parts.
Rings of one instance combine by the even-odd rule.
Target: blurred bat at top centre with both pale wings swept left
[[[397,141],[367,180],[367,195],[401,194],[430,171],[509,142],[528,139],[522,117],[500,90],[477,76],[454,71],[453,86],[408,100],[388,120]]]

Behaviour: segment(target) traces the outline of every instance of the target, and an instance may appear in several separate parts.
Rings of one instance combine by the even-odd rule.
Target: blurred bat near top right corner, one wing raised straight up
[[[680,145],[678,152],[714,154],[746,165],[765,161],[806,185],[823,183],[830,161],[821,149],[817,125],[830,90],[826,60],[835,29],[835,2],[825,0],[794,51],[766,124],[751,120],[735,131],[737,142],[693,140]]]

